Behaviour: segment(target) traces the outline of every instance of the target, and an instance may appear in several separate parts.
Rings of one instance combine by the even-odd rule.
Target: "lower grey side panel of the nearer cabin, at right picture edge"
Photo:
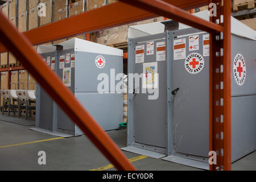
[[[256,96],[232,97],[232,162],[256,150]]]

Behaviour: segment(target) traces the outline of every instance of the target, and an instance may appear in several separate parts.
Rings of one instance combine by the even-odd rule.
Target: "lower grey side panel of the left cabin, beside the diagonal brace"
[[[123,121],[122,94],[75,93],[75,96],[105,131],[119,128]]]

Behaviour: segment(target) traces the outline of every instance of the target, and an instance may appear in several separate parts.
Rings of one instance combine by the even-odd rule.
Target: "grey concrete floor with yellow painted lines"
[[[110,164],[85,136],[8,146],[56,138],[29,128],[0,121],[0,170],[90,170]],[[126,146],[125,129],[109,131],[108,134],[118,147]],[[38,164],[39,151],[46,152],[46,165]],[[123,152],[129,159],[139,156],[131,152]],[[137,160],[133,164],[138,170],[199,170],[153,158]],[[105,169],[115,170],[112,167]],[[256,170],[256,151],[233,163],[232,169]]]

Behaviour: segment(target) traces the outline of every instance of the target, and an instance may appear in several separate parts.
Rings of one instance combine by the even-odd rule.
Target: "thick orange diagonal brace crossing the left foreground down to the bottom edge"
[[[73,93],[64,86],[60,78],[47,66],[42,57],[32,48],[32,44],[9,22],[0,12],[0,42],[13,53],[15,57],[35,77],[40,86],[65,111],[96,147],[119,170],[135,170],[112,139],[102,130],[100,125],[90,116]]]

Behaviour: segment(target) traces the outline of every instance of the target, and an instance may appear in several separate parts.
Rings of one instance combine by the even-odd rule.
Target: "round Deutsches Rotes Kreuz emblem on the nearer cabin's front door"
[[[204,57],[200,53],[191,53],[185,59],[185,69],[191,74],[199,73],[204,68]]]

